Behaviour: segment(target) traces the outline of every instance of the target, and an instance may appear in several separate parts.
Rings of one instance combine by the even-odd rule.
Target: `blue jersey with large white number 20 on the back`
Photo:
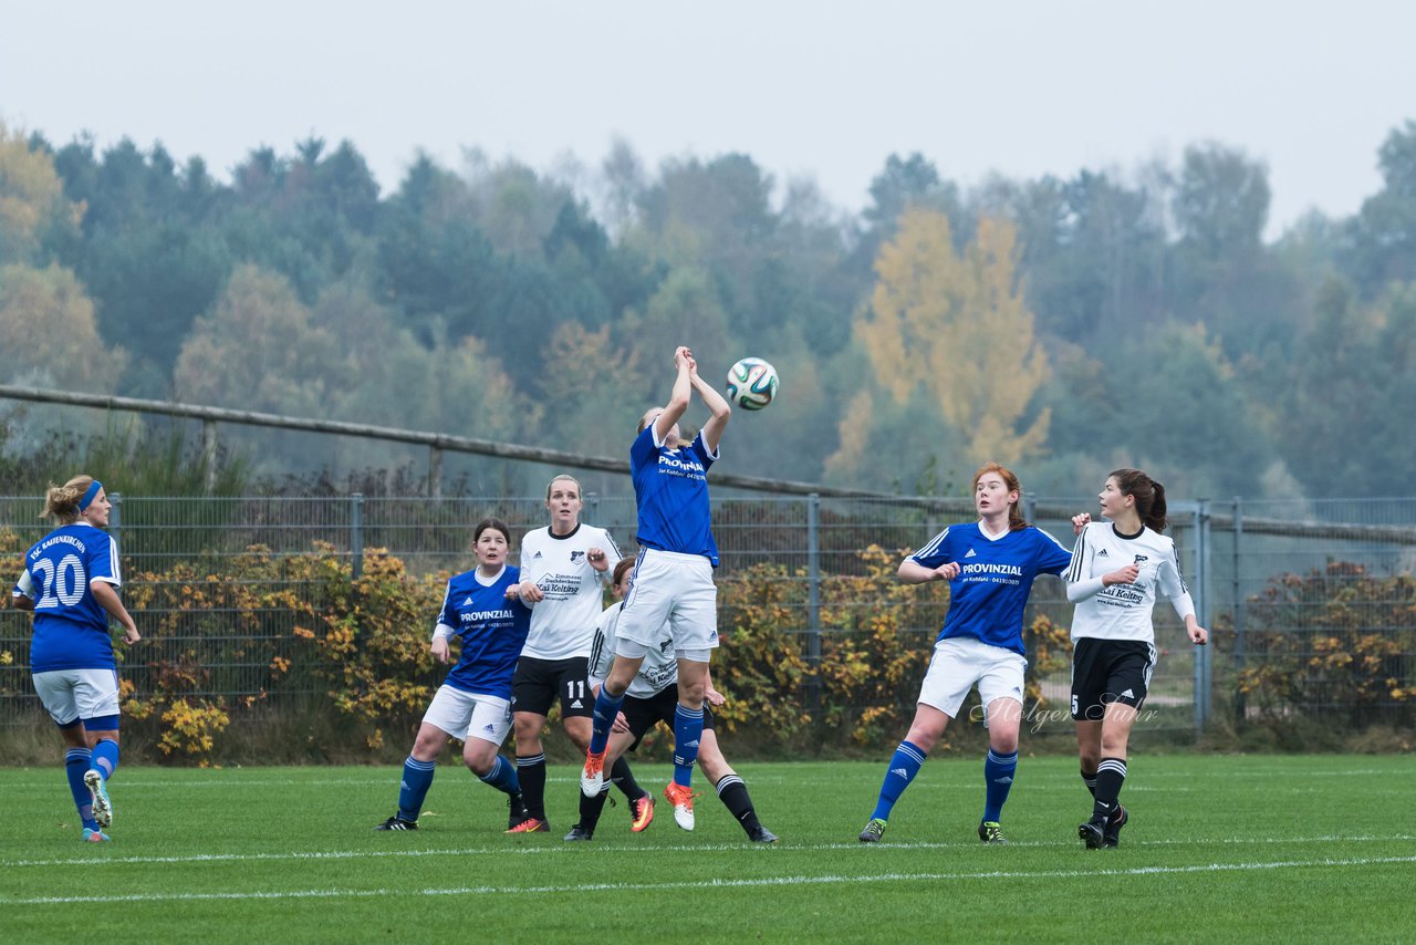
[[[88,523],[55,528],[24,555],[14,589],[34,601],[31,672],[118,669],[108,611],[93,598],[95,582],[116,588],[123,579],[118,543]]]

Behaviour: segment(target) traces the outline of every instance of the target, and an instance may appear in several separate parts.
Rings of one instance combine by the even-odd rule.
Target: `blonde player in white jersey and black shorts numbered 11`
[[[532,611],[531,632],[511,679],[511,715],[527,819],[510,825],[508,833],[549,829],[541,731],[556,698],[565,734],[581,751],[590,745],[595,693],[585,684],[586,660],[603,608],[605,582],[620,560],[607,531],[581,521],[585,499],[575,476],[559,475],[551,480],[545,507],[551,524],[521,540],[521,584],[525,588],[521,599],[531,604]],[[539,599],[531,599],[531,587],[539,589]],[[654,799],[634,782],[627,761],[615,762],[610,781],[629,799],[632,829],[647,827],[654,819]]]

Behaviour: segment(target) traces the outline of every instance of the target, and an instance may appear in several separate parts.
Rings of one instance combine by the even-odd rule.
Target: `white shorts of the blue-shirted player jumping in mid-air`
[[[634,564],[634,578],[619,625],[619,640],[658,646],[664,625],[674,650],[711,650],[718,646],[718,587],[712,562],[701,554],[644,548]],[[616,643],[615,652],[619,653]]]

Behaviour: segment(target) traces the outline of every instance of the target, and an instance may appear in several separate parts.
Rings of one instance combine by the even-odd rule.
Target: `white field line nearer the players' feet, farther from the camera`
[[[1144,843],[1127,844],[1130,850],[1146,849],[1146,847],[1161,847],[1161,846],[1199,846],[1199,844],[1225,844],[1225,846],[1274,846],[1274,844],[1291,844],[1291,843],[1399,843],[1416,840],[1416,834],[1412,833],[1389,833],[1389,834],[1327,834],[1327,836],[1310,836],[1310,837],[1221,837],[1221,839],[1191,839],[1191,840],[1147,840]],[[1061,840],[1012,840],[1008,843],[1010,847],[1024,847],[1024,849],[1065,849],[1076,847],[1076,840],[1061,842]],[[695,843],[695,844],[673,844],[673,846],[656,846],[643,847],[639,844],[616,844],[613,840],[603,846],[596,846],[596,850],[613,853],[613,851],[633,851],[643,853],[647,849],[663,853],[721,853],[728,850],[745,850],[749,849],[743,843]],[[969,842],[950,842],[937,843],[927,840],[918,842],[901,842],[892,843],[889,840],[868,846],[860,842],[851,843],[813,843],[813,844],[792,844],[790,840],[783,842],[773,847],[750,847],[755,850],[790,850],[800,853],[811,853],[821,850],[860,850],[869,854],[871,850],[977,850],[978,843]],[[1078,847],[1080,849],[1080,847]],[[0,870],[20,868],[20,867],[48,867],[57,866],[64,868],[71,868],[75,866],[82,866],[85,870],[101,866],[132,866],[137,863],[169,863],[169,864],[201,864],[201,863],[279,863],[279,861],[337,861],[337,860],[385,860],[385,859],[422,859],[422,857],[439,857],[439,856],[558,856],[572,853],[579,856],[581,844],[556,844],[556,846],[535,846],[535,847],[511,847],[511,846],[486,846],[486,847],[456,847],[446,850],[290,850],[285,853],[194,853],[191,856],[126,856],[126,857],[52,857],[48,860],[0,860]]]

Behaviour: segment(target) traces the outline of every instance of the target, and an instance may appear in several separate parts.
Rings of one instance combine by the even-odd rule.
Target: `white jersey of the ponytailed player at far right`
[[[1102,587],[1102,575],[1138,564],[1134,584]],[[1158,596],[1174,605],[1181,619],[1195,612],[1195,604],[1180,577],[1175,543],[1141,527],[1137,536],[1121,536],[1110,521],[1092,521],[1078,536],[1072,565],[1066,571],[1066,596],[1076,604],[1072,639],[1155,642],[1151,611]]]

